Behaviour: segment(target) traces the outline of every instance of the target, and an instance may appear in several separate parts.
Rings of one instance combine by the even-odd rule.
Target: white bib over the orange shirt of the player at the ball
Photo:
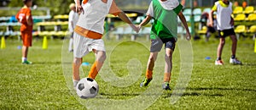
[[[82,3],[84,8],[79,16],[78,26],[100,34],[104,32],[104,20],[109,13],[113,0],[108,3],[102,3],[102,0],[89,0],[88,3]]]

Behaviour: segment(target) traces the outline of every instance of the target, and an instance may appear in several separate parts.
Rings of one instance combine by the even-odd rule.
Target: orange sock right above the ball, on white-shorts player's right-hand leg
[[[102,68],[103,63],[95,62],[90,68],[90,72],[88,74],[88,77],[91,79],[95,79],[96,75],[98,74],[99,70]]]

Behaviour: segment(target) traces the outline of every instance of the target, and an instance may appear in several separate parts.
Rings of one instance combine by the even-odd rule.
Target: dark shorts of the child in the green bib
[[[165,38],[165,39],[152,39],[151,40],[151,47],[150,52],[160,52],[161,48],[165,44],[165,48],[170,48],[172,51],[175,49],[176,40],[175,38]]]

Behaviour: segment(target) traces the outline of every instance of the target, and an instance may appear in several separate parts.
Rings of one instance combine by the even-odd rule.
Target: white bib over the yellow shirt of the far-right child
[[[215,7],[217,9],[217,29],[218,30],[229,30],[233,28],[233,25],[230,25],[232,10],[232,3],[230,3],[226,8],[221,6],[218,1],[215,3]]]

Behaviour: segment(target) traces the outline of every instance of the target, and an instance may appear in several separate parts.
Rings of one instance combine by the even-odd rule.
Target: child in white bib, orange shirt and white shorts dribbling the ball
[[[73,85],[80,80],[79,67],[82,58],[89,52],[94,52],[96,61],[90,68],[88,77],[95,79],[106,59],[106,50],[102,35],[104,32],[104,19],[107,14],[119,16],[120,19],[129,24],[133,30],[137,27],[122,12],[113,0],[75,0],[77,12],[80,13],[79,21],[74,29],[73,36]]]

